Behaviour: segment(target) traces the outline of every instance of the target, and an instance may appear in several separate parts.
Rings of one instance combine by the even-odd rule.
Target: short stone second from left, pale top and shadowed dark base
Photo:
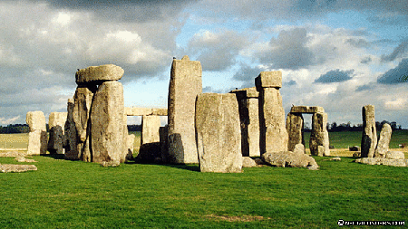
[[[63,154],[63,134],[67,112],[52,112],[48,119],[50,138],[48,139],[48,151],[51,154]]]

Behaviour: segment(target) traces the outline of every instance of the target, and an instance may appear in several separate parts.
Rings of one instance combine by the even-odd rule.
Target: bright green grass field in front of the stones
[[[335,144],[349,144],[343,141]],[[37,171],[0,173],[0,227],[334,228],[339,219],[408,219],[408,167],[315,158],[317,171],[214,174],[198,165],[101,167],[34,156],[22,164]],[[12,157],[0,163],[17,164]]]

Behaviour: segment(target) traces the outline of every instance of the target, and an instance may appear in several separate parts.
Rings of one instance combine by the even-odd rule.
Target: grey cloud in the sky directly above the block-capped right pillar
[[[316,64],[314,53],[306,46],[310,40],[305,28],[283,30],[272,38],[267,50],[259,52],[259,61],[274,69],[301,69]]]

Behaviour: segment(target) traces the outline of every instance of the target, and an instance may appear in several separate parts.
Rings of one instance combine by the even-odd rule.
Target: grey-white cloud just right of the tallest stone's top
[[[239,51],[247,46],[244,35],[226,31],[196,33],[189,41],[189,52],[198,55],[203,71],[224,71],[236,63]]]

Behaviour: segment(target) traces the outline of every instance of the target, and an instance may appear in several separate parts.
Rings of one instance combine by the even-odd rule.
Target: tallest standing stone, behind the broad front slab
[[[202,92],[201,63],[173,60],[169,86],[169,154],[175,163],[197,163],[195,102]]]

